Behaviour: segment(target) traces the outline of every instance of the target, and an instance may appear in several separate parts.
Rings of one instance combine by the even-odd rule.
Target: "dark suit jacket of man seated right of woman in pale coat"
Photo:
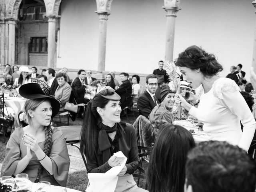
[[[85,85],[82,85],[80,79],[77,77],[72,82],[72,90],[77,103],[84,103]]]

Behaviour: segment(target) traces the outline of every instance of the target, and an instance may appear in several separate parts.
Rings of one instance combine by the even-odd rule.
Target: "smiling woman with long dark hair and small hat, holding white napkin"
[[[86,155],[88,173],[105,173],[122,164],[113,154],[121,151],[127,157],[118,174],[116,192],[146,192],[138,188],[132,174],[139,166],[137,139],[134,126],[120,122],[120,96],[105,86],[86,108],[80,150]]]

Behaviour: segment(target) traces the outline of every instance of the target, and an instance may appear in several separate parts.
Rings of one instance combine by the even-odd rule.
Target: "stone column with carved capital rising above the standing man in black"
[[[176,13],[180,10],[179,0],[164,0],[165,6],[163,9],[166,11],[166,43],[165,43],[165,60],[173,60],[173,47],[174,47],[174,33],[175,33],[175,20]]]

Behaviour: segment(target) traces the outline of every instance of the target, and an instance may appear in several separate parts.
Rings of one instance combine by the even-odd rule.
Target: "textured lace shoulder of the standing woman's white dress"
[[[219,99],[223,99],[222,92],[234,93],[236,91],[240,91],[240,88],[238,87],[236,82],[229,78],[219,78],[214,82],[212,88],[214,96]]]

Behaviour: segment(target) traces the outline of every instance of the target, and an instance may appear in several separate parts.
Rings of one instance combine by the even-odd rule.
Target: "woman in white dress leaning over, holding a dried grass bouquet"
[[[215,56],[198,46],[190,46],[179,54],[176,65],[191,82],[192,88],[202,85],[203,94],[198,108],[177,93],[175,102],[204,124],[203,129],[210,140],[227,141],[247,151],[256,122],[236,82],[218,75],[223,68]],[[240,121],[244,125],[243,132]]]

